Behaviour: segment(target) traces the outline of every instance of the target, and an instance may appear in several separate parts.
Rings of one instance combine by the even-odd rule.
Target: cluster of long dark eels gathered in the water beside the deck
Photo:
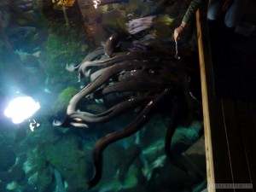
[[[85,86],[70,100],[66,117],[53,122],[60,127],[90,128],[91,124],[108,122],[127,111],[136,113],[129,125],[96,142],[92,152],[95,173],[87,183],[88,189],[101,180],[104,149],[141,130],[163,103],[164,110],[170,111],[165,151],[172,159],[171,141],[175,128],[180,117],[195,103],[189,89],[190,68],[182,59],[175,58],[174,51],[160,51],[158,46],[143,47],[141,44],[118,51],[117,44],[119,40],[113,34],[104,47],[86,55],[78,66],[67,65],[67,70],[79,73],[79,81],[84,80]],[[109,96],[116,99],[111,100],[112,105],[108,102]],[[87,102],[99,100],[108,102],[107,110],[102,113],[83,111]]]

